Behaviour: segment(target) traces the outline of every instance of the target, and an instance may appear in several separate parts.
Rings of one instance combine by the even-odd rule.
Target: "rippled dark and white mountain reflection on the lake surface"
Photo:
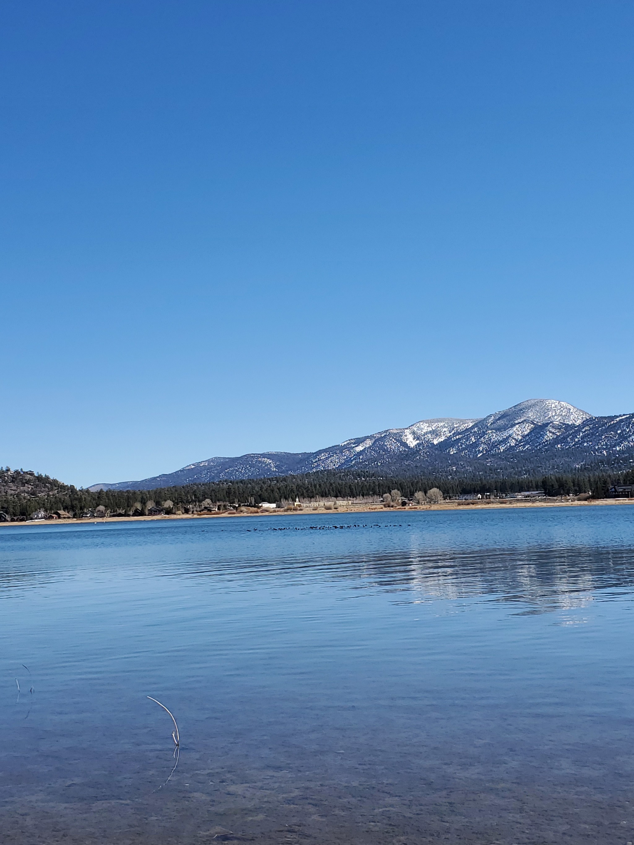
[[[230,564],[184,566],[171,577],[229,577]],[[527,604],[534,613],[581,607],[593,591],[634,585],[634,555],[621,548],[491,548],[468,553],[434,550],[366,553],[330,560],[243,562],[240,574],[260,578],[329,580],[334,586],[378,590],[401,602],[482,597]],[[164,573],[165,576],[168,576]],[[400,594],[400,595],[399,595]],[[609,593],[598,598],[609,599]]]

